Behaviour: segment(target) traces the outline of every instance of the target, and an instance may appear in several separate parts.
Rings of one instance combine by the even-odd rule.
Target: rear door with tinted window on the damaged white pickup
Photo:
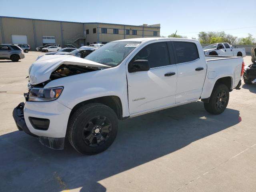
[[[206,76],[206,61],[199,58],[194,42],[172,41],[176,55],[177,88],[175,102],[199,99]]]

